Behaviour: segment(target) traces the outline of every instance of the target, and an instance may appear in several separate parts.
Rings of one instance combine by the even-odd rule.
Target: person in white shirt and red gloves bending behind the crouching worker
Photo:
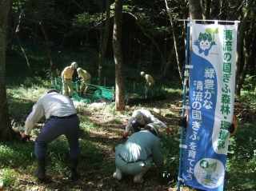
[[[130,132],[130,125],[132,125],[135,132],[138,132],[141,130],[141,128],[144,128],[145,125],[149,123],[160,125],[162,128],[166,129],[167,133],[172,133],[171,129],[167,127],[167,125],[162,121],[158,120],[158,118],[154,117],[150,111],[146,109],[137,109],[132,114],[132,117],[130,117],[130,121],[128,121],[126,125],[126,133],[122,135],[122,138],[128,137]]]

